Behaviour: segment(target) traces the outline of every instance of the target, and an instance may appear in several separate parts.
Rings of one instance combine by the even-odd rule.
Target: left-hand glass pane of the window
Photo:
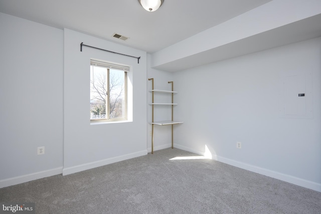
[[[107,69],[90,66],[90,119],[106,119]]]

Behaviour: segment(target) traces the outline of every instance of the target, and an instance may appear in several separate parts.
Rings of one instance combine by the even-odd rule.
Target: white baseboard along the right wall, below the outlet
[[[201,152],[201,151],[198,151],[196,149],[189,148],[189,147],[186,147],[186,146],[182,146],[182,145],[178,145],[177,144],[177,145],[175,145],[175,147],[179,148],[179,149],[182,149],[182,150],[185,150],[185,151],[193,152],[193,153],[196,153],[196,154],[199,154],[199,155],[205,155],[205,152]],[[272,177],[272,178],[276,178],[276,179],[279,179],[279,180],[282,180],[282,181],[285,181],[285,182],[288,182],[288,183],[292,183],[292,184],[295,184],[295,185],[298,185],[298,186],[302,186],[302,187],[305,187],[305,188],[309,188],[309,189],[313,189],[315,191],[321,192],[321,183],[316,183],[316,182],[313,182],[313,181],[309,181],[309,180],[305,180],[305,179],[302,179],[302,178],[294,177],[292,175],[283,174],[283,173],[280,173],[280,172],[276,172],[276,171],[273,171],[273,170],[261,168],[261,167],[255,166],[255,165],[250,165],[250,164],[247,164],[247,163],[243,163],[243,162],[240,162],[240,161],[236,161],[236,160],[225,158],[225,157],[221,157],[221,156],[213,156],[212,159],[220,161],[222,163],[226,163],[226,164],[232,165],[232,166],[236,166],[236,167],[248,170],[248,171],[256,172],[256,173],[259,173],[259,174],[262,174],[262,175],[266,175],[266,176],[269,176],[269,177]]]

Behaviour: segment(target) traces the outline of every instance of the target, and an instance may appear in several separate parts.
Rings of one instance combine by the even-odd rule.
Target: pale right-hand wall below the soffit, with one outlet
[[[320,51],[317,38],[174,73],[176,146],[321,191]],[[280,117],[285,74],[312,74],[312,119]]]

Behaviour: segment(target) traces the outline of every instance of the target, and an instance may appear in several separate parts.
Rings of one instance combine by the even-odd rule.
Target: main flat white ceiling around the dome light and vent
[[[152,54],[270,1],[165,0],[147,12],[137,0],[0,0],[0,12]]]

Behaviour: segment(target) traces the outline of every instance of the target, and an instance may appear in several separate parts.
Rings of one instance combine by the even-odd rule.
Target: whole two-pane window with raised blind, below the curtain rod
[[[127,119],[129,67],[90,60],[90,121]]]

